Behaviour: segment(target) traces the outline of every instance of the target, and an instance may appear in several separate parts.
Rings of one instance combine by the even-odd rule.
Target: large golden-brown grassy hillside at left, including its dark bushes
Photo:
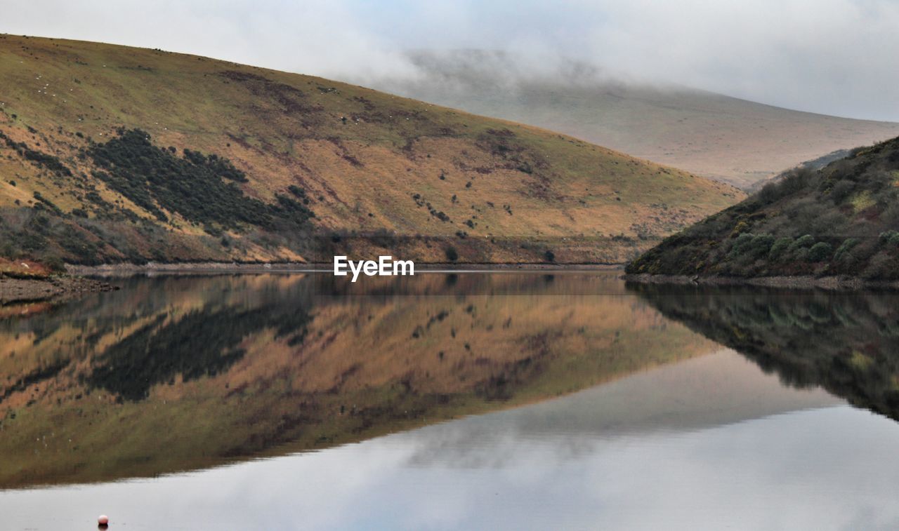
[[[423,261],[543,261],[530,237],[623,261],[644,243],[620,238],[742,198],[543,129],[160,50],[0,35],[0,79],[7,257],[302,261],[309,235],[358,233],[452,241],[414,245]]]

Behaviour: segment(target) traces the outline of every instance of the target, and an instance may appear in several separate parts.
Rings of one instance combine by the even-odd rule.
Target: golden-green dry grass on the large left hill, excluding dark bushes
[[[325,231],[668,235],[743,198],[724,184],[544,129],[208,58],[5,35],[0,78],[0,131],[57,155],[103,199],[146,218],[77,158],[88,138],[104,142],[116,128],[141,128],[159,146],[225,156],[248,175],[248,195],[270,201],[292,184],[307,190]],[[39,191],[64,212],[91,208],[72,180],[2,145],[0,176],[16,181],[0,186],[0,206],[16,199],[27,206]],[[414,194],[449,221],[419,207]],[[201,227],[172,217],[166,252],[180,260],[298,256],[257,243],[221,249],[199,241]],[[177,243],[177,235],[187,239]]]

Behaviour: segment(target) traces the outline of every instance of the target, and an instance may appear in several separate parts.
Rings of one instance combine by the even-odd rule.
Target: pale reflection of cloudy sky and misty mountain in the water
[[[731,352],[705,358],[316,453],[6,491],[0,514],[40,529],[87,528],[101,512],[127,529],[899,525],[894,421],[779,387]],[[697,385],[698,373],[724,385]]]

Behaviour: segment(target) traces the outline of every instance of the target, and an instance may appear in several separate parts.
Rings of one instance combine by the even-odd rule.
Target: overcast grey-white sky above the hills
[[[899,120],[899,0],[11,0],[0,31],[351,80],[503,49],[803,111]],[[520,56],[520,57],[521,57]]]

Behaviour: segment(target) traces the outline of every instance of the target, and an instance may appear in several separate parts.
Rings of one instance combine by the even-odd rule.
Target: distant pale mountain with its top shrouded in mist
[[[899,123],[790,111],[686,87],[625,82],[572,61],[534,66],[503,52],[410,54],[419,75],[370,86],[530,123],[734,186],[846,146],[899,135]]]

